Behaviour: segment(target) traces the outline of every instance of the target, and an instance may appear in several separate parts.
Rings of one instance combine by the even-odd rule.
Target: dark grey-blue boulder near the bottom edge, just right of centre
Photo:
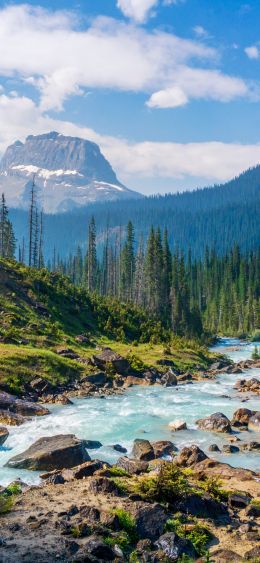
[[[163,534],[155,545],[160,551],[163,551],[167,561],[179,561],[183,555],[195,559],[198,555],[191,541],[180,538],[175,532]]]

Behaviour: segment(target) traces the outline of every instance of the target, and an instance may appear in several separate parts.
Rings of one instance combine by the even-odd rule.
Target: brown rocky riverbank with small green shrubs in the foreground
[[[2,491],[0,498],[12,502],[1,516],[1,561],[258,560],[254,472],[214,461],[195,445],[163,461],[161,455],[173,456],[169,443],[150,449],[140,440],[114,466],[81,459],[71,467],[84,444],[70,444],[74,457],[66,458],[68,438],[58,439],[64,469],[45,473],[40,486]],[[44,445],[37,448],[43,455]],[[51,451],[45,444],[53,467]]]

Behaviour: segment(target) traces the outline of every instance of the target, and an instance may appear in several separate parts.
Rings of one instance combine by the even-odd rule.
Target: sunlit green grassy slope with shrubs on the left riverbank
[[[75,339],[82,333],[89,339],[84,345]],[[84,358],[104,345],[122,355],[130,352],[146,366],[168,357],[182,370],[198,364],[207,367],[209,354],[204,347],[172,337],[165,349],[158,343],[161,333],[160,326],[132,306],[90,296],[46,270],[0,260],[0,384],[14,392],[36,375],[55,384],[91,371],[57,355],[59,346],[70,347]]]

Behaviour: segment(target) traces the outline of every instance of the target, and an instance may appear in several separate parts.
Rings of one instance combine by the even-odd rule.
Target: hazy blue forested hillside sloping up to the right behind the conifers
[[[78,246],[84,252],[92,215],[97,226],[98,252],[102,250],[105,232],[113,237],[121,231],[123,238],[129,220],[136,235],[142,234],[145,240],[152,224],[161,230],[167,228],[171,248],[178,247],[186,257],[189,249],[193,258],[203,257],[207,246],[222,255],[235,244],[241,252],[255,250],[260,244],[260,166],[220,186],[45,215],[45,258],[52,259],[54,247],[56,255],[63,258]],[[21,245],[28,233],[28,213],[11,210],[11,219]]]

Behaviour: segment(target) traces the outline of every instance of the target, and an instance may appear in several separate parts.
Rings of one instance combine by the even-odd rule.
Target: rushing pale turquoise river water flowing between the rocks
[[[237,339],[223,338],[213,348],[227,354],[238,362],[251,358],[254,346]],[[246,407],[259,410],[259,398],[242,402],[244,394],[233,389],[238,379],[260,377],[260,369],[245,370],[243,374],[221,374],[215,380],[205,379],[178,387],[132,387],[123,395],[107,398],[73,399],[68,406],[50,406],[51,414],[38,417],[19,427],[9,427],[10,435],[4,446],[0,447],[0,484],[6,485],[20,477],[27,483],[39,482],[37,472],[10,469],[4,464],[14,455],[24,451],[38,438],[55,434],[75,434],[79,438],[99,440],[103,446],[89,450],[91,458],[115,463],[120,457],[111,445],[121,444],[131,452],[135,438],[152,440],[171,440],[178,448],[198,444],[206,453],[210,444],[221,448],[227,444],[227,436],[203,432],[196,428],[196,420],[214,412],[223,412],[229,418],[235,410]],[[187,430],[171,432],[169,422],[182,419]],[[259,441],[255,432],[238,432],[245,441]],[[233,467],[259,470],[259,454],[241,452],[237,454],[210,453],[211,457],[229,463]]]

